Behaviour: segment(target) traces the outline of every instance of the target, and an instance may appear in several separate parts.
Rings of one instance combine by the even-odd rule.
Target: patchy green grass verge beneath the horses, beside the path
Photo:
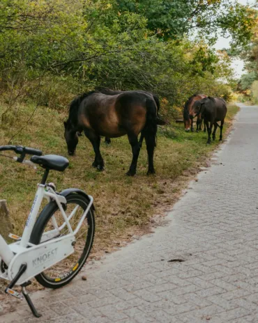
[[[4,107],[0,107],[0,115],[1,109],[5,111]],[[0,145],[8,143],[13,134],[26,124],[33,109],[33,105],[22,106],[18,118],[10,113],[5,116],[1,122]],[[237,111],[236,106],[229,105],[224,134]],[[31,122],[13,139],[13,144],[68,157],[63,139],[66,114],[39,107]],[[102,141],[101,151],[105,160],[103,173],[91,167],[93,149],[89,140],[82,136],[76,156],[68,157],[69,168],[65,173],[52,171],[49,181],[55,182],[59,191],[77,187],[93,196],[97,228],[93,255],[98,255],[145,230],[155,214],[165,214],[165,210],[172,207],[181,189],[218,144],[218,139],[211,145],[206,145],[206,140],[207,134],[203,132],[185,133],[183,124],[163,127],[159,130],[155,149],[156,174],[146,176],[147,155],[143,145],[137,175],[129,178],[125,174],[132,155],[126,136],[112,140],[109,146]],[[40,168],[34,171],[3,157],[0,160],[0,196],[8,200],[13,233],[20,235],[43,171]]]

